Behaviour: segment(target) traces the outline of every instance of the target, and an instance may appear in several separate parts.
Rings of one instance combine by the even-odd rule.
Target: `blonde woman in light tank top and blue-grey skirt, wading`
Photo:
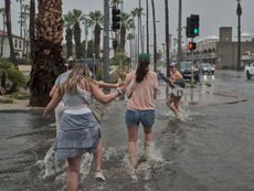
[[[55,152],[56,158],[67,159],[67,190],[78,189],[82,153],[94,153],[102,136],[100,125],[86,103],[94,97],[98,102],[107,104],[124,91],[124,87],[121,87],[106,95],[89,78],[88,74],[89,71],[86,65],[76,64],[61,91],[54,94],[43,113],[44,117],[49,117],[50,113],[63,99],[65,110],[60,123]]]

